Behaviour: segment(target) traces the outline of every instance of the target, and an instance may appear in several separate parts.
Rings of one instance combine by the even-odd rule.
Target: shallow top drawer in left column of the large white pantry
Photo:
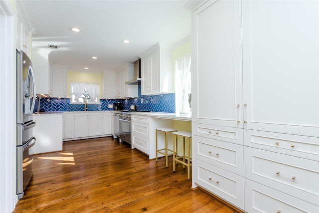
[[[243,129],[233,127],[214,126],[209,124],[192,124],[192,133],[194,135],[211,138],[215,140],[226,141],[230,143],[243,145]]]

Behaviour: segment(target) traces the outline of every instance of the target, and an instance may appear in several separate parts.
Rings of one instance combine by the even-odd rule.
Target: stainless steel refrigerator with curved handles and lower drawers
[[[22,199],[33,175],[34,146],[33,109],[35,104],[35,78],[32,62],[23,51],[16,51],[16,194]]]

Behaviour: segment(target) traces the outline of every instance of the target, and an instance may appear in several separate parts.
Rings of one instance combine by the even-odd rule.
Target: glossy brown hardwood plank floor
[[[187,170],[172,172],[112,137],[63,143],[34,156],[33,178],[13,213],[237,213],[201,190]]]

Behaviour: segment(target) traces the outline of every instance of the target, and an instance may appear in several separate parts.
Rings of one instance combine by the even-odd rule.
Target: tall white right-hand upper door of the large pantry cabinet
[[[319,1],[242,1],[245,128],[319,137]]]

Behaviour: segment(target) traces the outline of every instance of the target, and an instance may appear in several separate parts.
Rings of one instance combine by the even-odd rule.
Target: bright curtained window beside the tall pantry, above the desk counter
[[[191,59],[190,54],[175,61],[175,111],[191,113]]]

